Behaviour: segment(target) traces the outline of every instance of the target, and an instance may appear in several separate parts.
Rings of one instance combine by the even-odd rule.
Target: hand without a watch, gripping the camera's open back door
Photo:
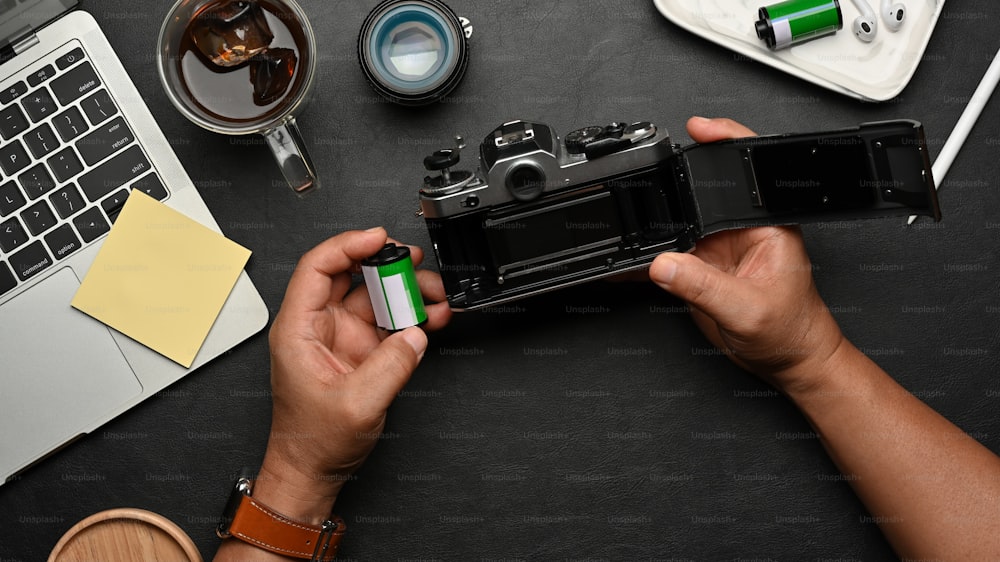
[[[694,117],[687,126],[696,142],[754,136],[729,119]],[[690,304],[695,323],[730,359],[786,393],[818,383],[826,371],[817,367],[844,339],[796,227],[714,234],[691,254],[658,256],[649,276]]]

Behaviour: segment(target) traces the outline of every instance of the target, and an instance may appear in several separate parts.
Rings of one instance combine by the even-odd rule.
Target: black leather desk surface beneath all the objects
[[[330,235],[383,224],[426,247],[421,161],[456,133],[476,142],[514,118],[563,133],[652,120],[686,144],[692,114],[761,133],[913,118],[936,156],[1000,47],[1000,3],[951,0],[910,85],[872,104],[734,56],[647,0],[450,0],[475,25],[468,75],[448,103],[407,110],[380,103],[357,66],[375,1],[303,0],[323,54],[301,125],[323,188],[298,200],[260,142],[202,131],[169,106],[150,60],[170,3],[84,7],[225,233],[253,250],[272,314],[297,258]],[[998,123],[993,100],[943,187],[942,223],[805,229],[848,336],[994,451]],[[211,557],[216,516],[239,468],[259,463],[269,416],[261,333],[0,488],[0,560],[44,559],[73,523],[119,506],[169,517]],[[651,285],[591,284],[457,317],[432,337],[337,512],[355,560],[894,558],[797,411]]]

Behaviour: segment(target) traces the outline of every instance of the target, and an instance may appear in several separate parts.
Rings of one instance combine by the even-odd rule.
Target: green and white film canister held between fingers
[[[361,273],[379,328],[405,330],[427,321],[409,248],[386,244],[379,253],[361,262]]]

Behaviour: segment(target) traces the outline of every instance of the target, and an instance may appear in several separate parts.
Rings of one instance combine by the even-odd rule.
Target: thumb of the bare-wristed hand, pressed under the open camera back
[[[649,278],[720,324],[738,320],[740,309],[753,302],[750,288],[740,279],[692,254],[657,256],[649,268]]]

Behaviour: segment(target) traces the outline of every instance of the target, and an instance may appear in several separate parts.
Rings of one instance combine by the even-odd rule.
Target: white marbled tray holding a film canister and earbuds
[[[859,15],[851,0],[840,0],[844,27],[836,35],[771,51],[757,38],[757,10],[777,0],[653,0],[667,19],[748,58],[859,99],[885,101],[910,81],[924,56],[944,0],[903,0],[906,21],[892,33],[879,20],[871,43],[854,37]],[[879,0],[869,0],[878,10]]]

